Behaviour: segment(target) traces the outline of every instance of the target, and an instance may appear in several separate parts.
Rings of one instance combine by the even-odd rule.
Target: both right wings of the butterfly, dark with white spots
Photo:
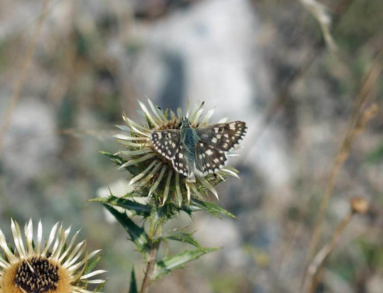
[[[246,135],[246,123],[234,121],[196,128],[196,169],[199,177],[215,173],[227,164],[226,152],[237,147]]]

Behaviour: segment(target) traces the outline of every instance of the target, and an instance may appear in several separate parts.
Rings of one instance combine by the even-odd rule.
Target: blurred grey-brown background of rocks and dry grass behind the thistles
[[[189,96],[213,122],[248,124],[231,159],[241,180],[218,187],[239,219],[181,214],[179,227],[222,250],[150,292],[299,292],[326,189],[316,252],[352,197],[371,208],[346,225],[316,292],[383,292],[382,28],[381,0],[1,0],[2,231],[10,217],[82,227],[103,249],[105,292],[127,292],[133,265],[140,283],[127,234],[86,202],[127,188],[98,151],[121,149],[110,136],[124,111],[141,119],[136,99],[176,110]]]

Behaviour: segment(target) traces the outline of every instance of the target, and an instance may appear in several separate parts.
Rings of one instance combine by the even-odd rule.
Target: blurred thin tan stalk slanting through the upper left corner
[[[40,35],[42,23],[44,21],[44,18],[45,18],[46,12],[47,12],[49,1],[50,0],[44,1],[42,12],[37,19],[36,28],[34,30],[31,42],[29,43],[29,46],[27,48],[27,52],[24,56],[21,70],[20,70],[20,74],[18,76],[15,87],[13,89],[11,101],[10,101],[8,108],[7,108],[7,111],[5,113],[3,126],[0,128],[0,156],[1,156],[2,150],[3,150],[5,134],[7,133],[7,130],[9,128],[9,124],[11,122],[12,113],[13,113],[13,111],[17,105],[17,101],[20,97],[20,91],[21,91],[21,88],[24,84],[25,77],[27,74],[27,69],[28,69],[28,66],[32,60],[33,52],[35,51],[35,48],[36,48],[37,39],[38,39],[38,36]]]

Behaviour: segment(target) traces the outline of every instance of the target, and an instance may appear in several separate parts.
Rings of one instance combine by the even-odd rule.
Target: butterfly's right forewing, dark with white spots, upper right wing
[[[229,152],[237,147],[247,132],[246,123],[234,121],[196,128],[199,140],[212,148]]]

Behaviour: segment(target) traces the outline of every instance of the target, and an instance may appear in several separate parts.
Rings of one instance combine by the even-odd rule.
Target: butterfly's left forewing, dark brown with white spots
[[[180,131],[177,129],[167,129],[153,131],[151,134],[153,148],[163,157],[171,160],[179,149]]]

